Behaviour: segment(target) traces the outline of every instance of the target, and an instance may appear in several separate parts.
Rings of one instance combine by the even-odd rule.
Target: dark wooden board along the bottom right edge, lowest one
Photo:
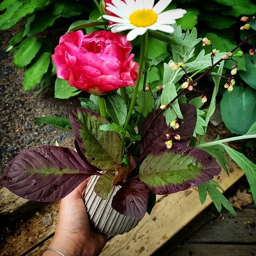
[[[252,256],[256,245],[237,244],[184,244],[170,256]]]

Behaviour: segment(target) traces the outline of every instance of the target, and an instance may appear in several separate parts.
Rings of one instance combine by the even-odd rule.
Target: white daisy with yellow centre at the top
[[[160,30],[173,33],[176,19],[182,18],[186,10],[175,9],[163,12],[172,0],[160,0],[154,6],[154,0],[112,0],[106,3],[106,10],[116,16],[103,15],[103,18],[114,22],[110,25],[111,31],[118,33],[131,30],[127,40],[132,41],[137,36],[143,35],[147,30]]]

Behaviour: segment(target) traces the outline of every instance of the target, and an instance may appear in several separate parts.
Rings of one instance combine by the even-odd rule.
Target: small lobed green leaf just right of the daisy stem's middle
[[[143,91],[138,92],[137,97],[138,106],[135,106],[134,109],[146,118],[154,108],[154,98],[150,92]]]

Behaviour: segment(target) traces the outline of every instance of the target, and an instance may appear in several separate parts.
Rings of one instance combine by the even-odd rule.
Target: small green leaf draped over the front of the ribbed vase
[[[104,200],[108,199],[114,178],[115,174],[113,172],[108,171],[102,174],[94,186],[95,193]]]

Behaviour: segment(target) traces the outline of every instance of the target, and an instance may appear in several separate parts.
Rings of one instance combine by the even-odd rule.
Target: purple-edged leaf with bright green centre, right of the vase
[[[211,180],[221,171],[210,154],[199,148],[174,144],[150,153],[142,162],[139,178],[154,194],[172,194]]]

